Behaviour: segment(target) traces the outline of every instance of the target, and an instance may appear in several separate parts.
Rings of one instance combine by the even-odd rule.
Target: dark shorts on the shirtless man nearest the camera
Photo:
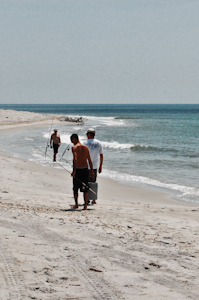
[[[75,178],[73,178],[73,192],[74,195],[78,195],[78,190],[80,192],[86,193],[88,192],[88,176],[89,170],[87,168],[84,169],[76,169]],[[77,180],[77,179],[79,180]],[[84,184],[82,184],[84,183]]]

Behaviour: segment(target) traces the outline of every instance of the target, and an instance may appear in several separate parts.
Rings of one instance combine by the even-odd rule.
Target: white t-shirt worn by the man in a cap
[[[84,142],[84,145],[89,149],[90,157],[93,163],[93,169],[97,169],[99,155],[103,154],[102,144],[96,139],[88,139]]]

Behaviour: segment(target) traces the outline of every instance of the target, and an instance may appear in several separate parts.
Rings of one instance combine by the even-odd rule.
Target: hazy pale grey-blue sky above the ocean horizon
[[[198,0],[0,0],[0,104],[199,104]]]

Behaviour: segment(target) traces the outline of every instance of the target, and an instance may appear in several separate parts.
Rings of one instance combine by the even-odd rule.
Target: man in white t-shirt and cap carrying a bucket
[[[93,128],[89,128],[86,132],[86,135],[87,135],[87,141],[84,142],[84,145],[87,146],[89,149],[89,153],[93,163],[93,172],[94,172],[94,176],[89,176],[88,181],[96,182],[97,171],[99,173],[102,172],[102,165],[104,159],[103,147],[100,141],[95,139],[95,130]],[[96,200],[93,200],[92,204],[96,204]]]

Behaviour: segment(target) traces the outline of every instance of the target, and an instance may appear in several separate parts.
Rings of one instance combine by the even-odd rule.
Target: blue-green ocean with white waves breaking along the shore
[[[126,185],[169,192],[173,198],[199,203],[199,105],[0,105],[37,113],[78,116],[83,125],[58,126],[62,145],[60,161],[71,170],[70,135],[86,139],[89,127],[104,149],[99,176]],[[52,128],[51,128],[52,127]],[[53,123],[46,129],[2,135],[1,151],[43,165],[53,165],[52,150],[45,149]],[[57,166],[59,167],[59,166]],[[69,177],[69,180],[71,178]]]

